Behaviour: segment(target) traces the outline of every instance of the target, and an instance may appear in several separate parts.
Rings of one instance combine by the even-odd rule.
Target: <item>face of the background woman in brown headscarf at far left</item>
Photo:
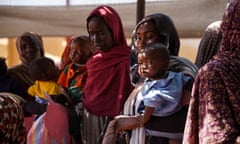
[[[23,37],[21,40],[21,55],[27,64],[41,56],[40,48],[30,37]]]

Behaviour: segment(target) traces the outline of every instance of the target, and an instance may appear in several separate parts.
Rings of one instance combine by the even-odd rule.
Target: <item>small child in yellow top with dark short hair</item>
[[[30,73],[35,82],[28,88],[28,94],[35,96],[36,102],[48,103],[44,93],[50,96],[62,93],[61,87],[56,83],[59,71],[52,59],[47,57],[35,59],[30,64]]]

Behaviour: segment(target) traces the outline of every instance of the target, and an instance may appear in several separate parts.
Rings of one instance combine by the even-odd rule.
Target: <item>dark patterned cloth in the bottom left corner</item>
[[[0,142],[25,144],[26,128],[20,99],[11,93],[0,93]]]

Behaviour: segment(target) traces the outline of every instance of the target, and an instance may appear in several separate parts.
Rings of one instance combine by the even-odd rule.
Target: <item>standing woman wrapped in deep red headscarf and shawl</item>
[[[97,49],[86,64],[84,88],[84,139],[101,143],[109,119],[119,115],[132,90],[130,48],[118,13],[109,6],[95,8],[87,18],[89,38]]]

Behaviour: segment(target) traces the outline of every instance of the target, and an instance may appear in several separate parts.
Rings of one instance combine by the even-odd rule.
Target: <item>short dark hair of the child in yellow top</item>
[[[40,57],[30,63],[30,72],[34,80],[39,81],[55,81],[57,67],[52,59]]]

